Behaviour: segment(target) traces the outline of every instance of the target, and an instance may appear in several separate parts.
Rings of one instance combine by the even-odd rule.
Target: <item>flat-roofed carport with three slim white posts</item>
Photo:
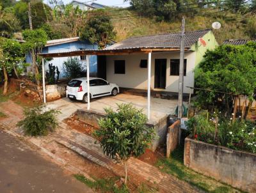
[[[147,73],[147,117],[150,120],[150,87],[151,87],[151,55],[152,52],[170,52],[180,51],[180,48],[166,48],[166,47],[134,47],[129,49],[104,49],[104,50],[76,50],[72,52],[60,52],[60,53],[47,53],[38,54],[43,58],[42,60],[42,79],[43,79],[43,91],[44,91],[44,103],[46,103],[45,96],[45,70],[44,70],[44,58],[60,58],[60,57],[72,57],[72,56],[86,56],[86,73],[87,79],[90,78],[90,56],[113,56],[113,55],[129,55],[129,54],[148,54],[148,73]],[[87,81],[87,93],[90,93],[90,81]],[[88,97],[87,109],[90,110],[90,97]]]

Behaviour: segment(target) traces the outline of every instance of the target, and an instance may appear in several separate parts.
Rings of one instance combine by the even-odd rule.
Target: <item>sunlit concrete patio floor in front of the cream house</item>
[[[175,108],[178,105],[178,100],[166,100],[162,98],[150,98],[151,118],[148,123],[155,125],[159,120],[173,114]],[[104,113],[104,108],[111,107],[113,109],[117,108],[116,104],[131,103],[139,109],[143,109],[143,112],[147,114],[147,97],[136,96],[136,95],[126,95],[119,94],[117,96],[104,96],[100,98],[95,98],[91,102],[91,110],[99,113]],[[72,113],[76,112],[77,109],[86,109],[87,104],[83,104],[80,101],[71,101],[68,98],[61,98],[59,100],[47,103],[47,107],[52,109],[58,109],[61,114],[58,116],[58,120],[62,121],[68,118]]]

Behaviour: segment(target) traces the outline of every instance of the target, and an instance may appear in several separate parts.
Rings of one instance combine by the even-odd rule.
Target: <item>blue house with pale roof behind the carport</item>
[[[96,44],[92,44],[89,41],[82,41],[79,37],[74,38],[63,38],[58,40],[49,40],[42,49],[42,53],[50,54],[56,52],[72,52],[76,50],[84,49],[98,49]],[[84,71],[86,71],[86,61],[85,56],[75,56],[79,58],[79,61],[84,66]],[[63,63],[67,61],[68,57],[52,58],[51,61],[45,62],[45,71],[49,70],[49,63],[54,66],[58,66],[60,70],[60,79],[65,78],[65,73],[63,71]],[[26,63],[32,63],[31,56],[28,54],[26,56]],[[27,72],[31,71],[31,66],[27,68]],[[97,75],[97,56],[90,57],[90,74],[93,76]]]

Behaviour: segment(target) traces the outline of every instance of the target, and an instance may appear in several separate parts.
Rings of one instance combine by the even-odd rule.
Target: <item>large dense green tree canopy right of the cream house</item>
[[[207,51],[204,61],[195,70],[196,87],[213,91],[198,91],[196,102],[201,107],[216,104],[232,105],[232,95],[214,91],[247,95],[251,100],[256,88],[256,43],[221,45]],[[226,106],[227,107],[227,106]]]

